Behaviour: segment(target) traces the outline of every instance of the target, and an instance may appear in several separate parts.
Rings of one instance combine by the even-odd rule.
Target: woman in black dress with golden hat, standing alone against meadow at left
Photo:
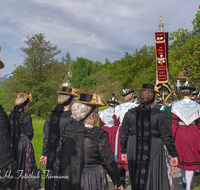
[[[19,93],[15,100],[16,106],[9,115],[13,151],[18,170],[16,174],[15,190],[36,189],[29,184],[28,178],[24,177],[37,170],[34,149],[31,143],[34,135],[32,119],[30,114],[25,113],[32,100],[30,93]]]

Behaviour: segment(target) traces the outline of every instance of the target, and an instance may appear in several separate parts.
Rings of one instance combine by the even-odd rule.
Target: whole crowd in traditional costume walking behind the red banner
[[[190,190],[200,169],[200,105],[195,90],[187,81],[180,87],[183,100],[167,104],[153,84],[143,84],[138,95],[123,87],[125,103],[112,94],[107,109],[99,111],[104,105],[100,95],[79,96],[75,89],[63,87],[43,128],[40,162],[46,165],[45,189],[108,190],[108,174],[114,188],[123,190],[128,170],[132,190],[173,190],[172,167],[177,166],[183,187]],[[41,187],[42,171],[31,143],[32,119],[26,113],[32,101],[30,93],[19,93],[8,117],[0,107],[0,148],[10,158],[7,164],[0,156],[0,164],[5,162],[4,172],[10,169],[15,176],[6,182],[0,179],[0,190]],[[39,178],[21,177],[30,174]]]

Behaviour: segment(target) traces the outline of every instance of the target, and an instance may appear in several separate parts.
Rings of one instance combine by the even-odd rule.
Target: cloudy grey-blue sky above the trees
[[[166,32],[192,30],[199,0],[1,0],[0,46],[5,75],[23,65],[26,36],[44,33],[62,55],[110,62],[154,45],[162,14]]]

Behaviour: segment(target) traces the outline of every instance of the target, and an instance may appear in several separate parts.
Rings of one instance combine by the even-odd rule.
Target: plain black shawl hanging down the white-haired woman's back
[[[61,181],[61,190],[80,189],[84,158],[84,132],[83,121],[75,121],[66,129],[61,176],[66,176],[67,178]]]

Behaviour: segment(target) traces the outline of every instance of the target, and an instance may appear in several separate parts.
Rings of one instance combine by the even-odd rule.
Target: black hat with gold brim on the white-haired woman
[[[91,106],[104,106],[98,94],[80,94],[80,100],[74,102]]]

